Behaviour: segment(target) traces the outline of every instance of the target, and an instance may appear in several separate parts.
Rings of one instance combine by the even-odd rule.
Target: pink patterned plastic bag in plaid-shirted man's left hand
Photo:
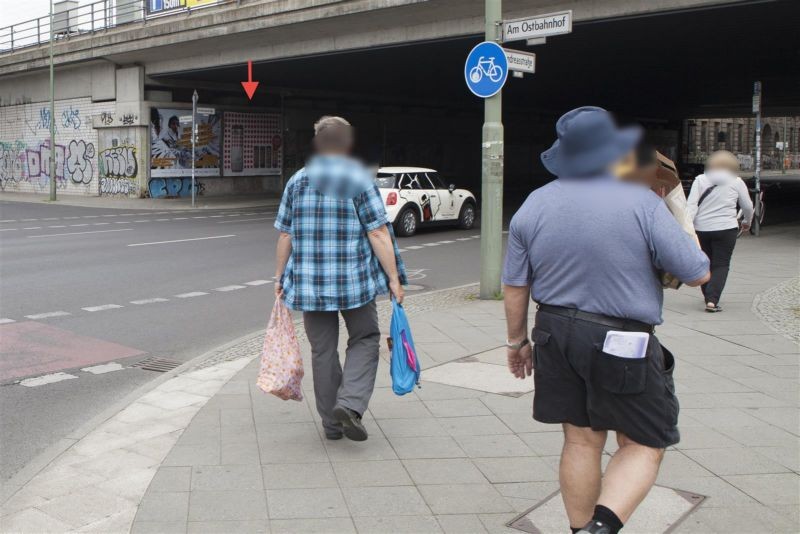
[[[303,400],[303,358],[294,331],[292,314],[280,298],[275,300],[267,324],[258,387],[283,400]]]

